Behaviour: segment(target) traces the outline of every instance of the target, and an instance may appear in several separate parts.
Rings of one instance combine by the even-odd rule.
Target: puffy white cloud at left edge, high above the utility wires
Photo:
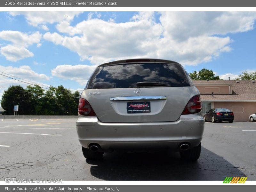
[[[31,35],[21,33],[20,31],[1,31],[0,39],[12,42],[11,45],[1,47],[1,54],[5,56],[6,60],[14,62],[34,56],[27,49],[29,45],[37,44],[37,47],[41,46],[41,34],[38,31]]]

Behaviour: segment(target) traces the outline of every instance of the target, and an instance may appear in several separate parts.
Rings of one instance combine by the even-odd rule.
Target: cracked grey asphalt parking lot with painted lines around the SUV
[[[197,162],[179,153],[104,154],[86,161],[76,135],[76,119],[0,120],[0,180],[256,180],[256,122],[205,123]]]

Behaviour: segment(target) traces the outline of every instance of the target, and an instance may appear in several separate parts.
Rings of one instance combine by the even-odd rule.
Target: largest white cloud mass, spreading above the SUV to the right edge
[[[92,15],[93,13],[91,13]],[[228,33],[251,30],[255,12],[139,12],[129,22],[94,19],[71,26],[56,25],[58,33],[44,39],[76,52],[80,60],[100,64],[127,58],[161,58],[197,65],[232,50]],[[219,36],[221,35],[221,36]]]

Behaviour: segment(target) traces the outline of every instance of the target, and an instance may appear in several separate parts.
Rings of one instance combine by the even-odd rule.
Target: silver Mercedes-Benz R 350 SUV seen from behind
[[[115,149],[169,148],[197,160],[204,132],[199,91],[174,61],[104,63],[80,96],[76,129],[87,159]]]

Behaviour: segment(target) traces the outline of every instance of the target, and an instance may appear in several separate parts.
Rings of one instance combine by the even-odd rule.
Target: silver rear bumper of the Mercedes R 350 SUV
[[[79,116],[78,139],[84,148],[97,143],[104,149],[172,148],[181,143],[200,144],[204,119],[199,114],[183,115],[175,122],[102,123],[97,117]]]

